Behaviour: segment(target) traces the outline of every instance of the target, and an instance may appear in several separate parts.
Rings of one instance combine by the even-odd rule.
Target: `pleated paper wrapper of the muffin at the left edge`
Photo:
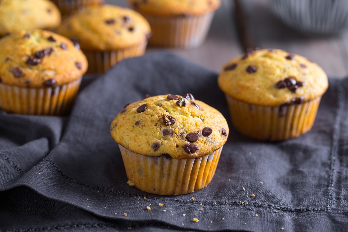
[[[71,109],[81,79],[45,88],[24,88],[0,83],[0,108],[17,114],[65,115]]]

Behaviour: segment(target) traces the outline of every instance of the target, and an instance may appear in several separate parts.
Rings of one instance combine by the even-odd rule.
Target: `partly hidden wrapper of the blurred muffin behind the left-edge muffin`
[[[112,51],[87,51],[84,54],[88,60],[87,73],[103,73],[108,71],[116,63],[122,59],[144,55],[147,46],[147,41],[140,45],[125,49]]]

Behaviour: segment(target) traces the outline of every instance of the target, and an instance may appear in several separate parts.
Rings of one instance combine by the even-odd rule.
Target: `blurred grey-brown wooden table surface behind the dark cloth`
[[[106,3],[127,7],[126,0],[106,0]],[[308,37],[286,27],[268,8],[267,0],[241,0],[245,23],[255,46],[279,48],[308,57],[319,64],[329,77],[345,78],[348,74],[348,32],[335,37]],[[163,48],[148,47],[147,52]],[[207,40],[193,49],[166,50],[192,62],[220,71],[224,63],[244,52],[236,29],[235,6],[232,0],[222,0],[216,11]]]

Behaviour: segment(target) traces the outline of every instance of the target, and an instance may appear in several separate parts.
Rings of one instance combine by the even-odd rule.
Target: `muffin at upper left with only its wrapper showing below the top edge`
[[[103,0],[52,0],[57,5],[62,15],[68,15],[88,6],[101,5]]]

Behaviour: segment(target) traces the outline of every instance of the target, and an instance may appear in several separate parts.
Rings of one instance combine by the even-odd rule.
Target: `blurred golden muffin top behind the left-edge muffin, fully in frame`
[[[111,5],[88,7],[66,18],[57,33],[77,39],[82,50],[116,50],[146,42],[147,20],[131,9]]]

